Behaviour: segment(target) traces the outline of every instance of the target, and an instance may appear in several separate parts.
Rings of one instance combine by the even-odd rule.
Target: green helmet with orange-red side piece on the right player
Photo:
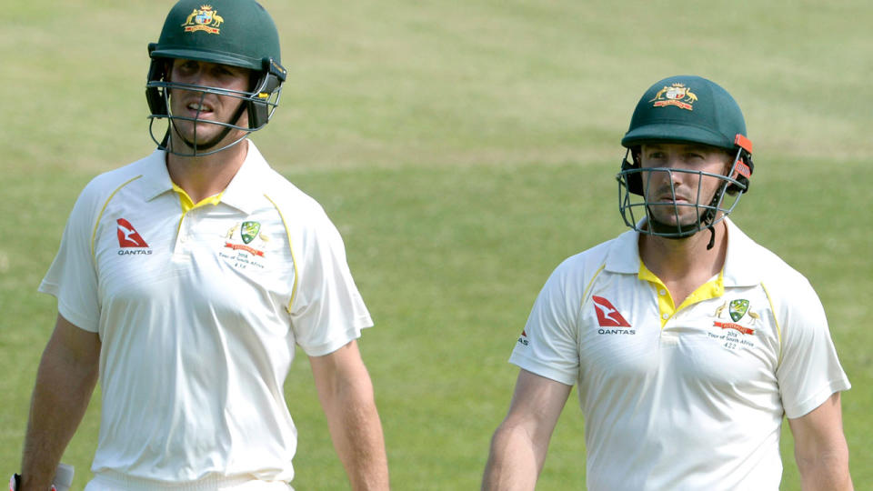
[[[724,175],[665,167],[642,168],[640,145],[651,143],[692,143],[724,149],[733,155],[733,163]],[[627,148],[616,176],[618,181],[618,208],[625,224],[637,232],[660,235],[667,238],[683,238],[694,235],[723,220],[739,202],[739,197],[748,191],[752,175],[752,142],[748,140],[746,120],[734,98],[715,82],[699,76],[671,76],[648,88],[639,99],[630,119],[627,133],[621,139]],[[630,157],[630,159],[628,159]],[[677,225],[659,224],[653,220],[647,196],[647,183],[653,173],[691,173],[710,175],[721,180],[715,195],[704,203],[677,203],[673,212]],[[670,179],[671,185],[673,180]],[[698,179],[697,196],[700,196]],[[675,189],[673,189],[674,198]],[[728,199],[726,200],[726,195]],[[663,205],[663,204],[660,204]],[[697,220],[682,224],[678,220],[679,207],[697,209]],[[646,220],[642,220],[646,218]],[[714,240],[714,235],[712,239]],[[710,241],[710,246],[712,245]]]

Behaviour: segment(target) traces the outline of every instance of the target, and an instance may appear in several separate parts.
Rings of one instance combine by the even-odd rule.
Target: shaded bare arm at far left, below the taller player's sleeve
[[[22,456],[22,491],[51,486],[55,468],[94,393],[100,346],[96,333],[57,316],[36,372]]]

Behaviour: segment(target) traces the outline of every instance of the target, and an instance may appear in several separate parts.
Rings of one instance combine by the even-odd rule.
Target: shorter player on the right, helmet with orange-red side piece
[[[754,168],[736,101],[698,76],[660,80],[621,143],[631,230],[537,296],[483,488],[533,489],[576,385],[588,489],[776,490],[784,416],[804,488],[850,489],[849,383],[818,296],[728,218]]]

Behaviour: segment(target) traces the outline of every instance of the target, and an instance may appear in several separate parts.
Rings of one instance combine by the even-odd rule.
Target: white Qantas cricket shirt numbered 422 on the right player
[[[628,231],[549,277],[510,361],[578,385],[591,490],[776,490],[783,414],[847,390],[806,278],[728,223],[677,308]]]

